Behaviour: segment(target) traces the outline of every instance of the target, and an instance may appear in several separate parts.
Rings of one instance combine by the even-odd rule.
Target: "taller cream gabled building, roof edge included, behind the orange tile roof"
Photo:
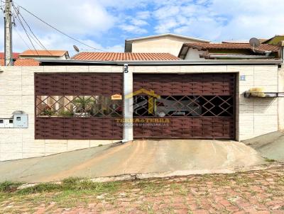
[[[209,40],[165,33],[125,40],[124,52],[169,52],[178,56],[183,43],[209,43]]]

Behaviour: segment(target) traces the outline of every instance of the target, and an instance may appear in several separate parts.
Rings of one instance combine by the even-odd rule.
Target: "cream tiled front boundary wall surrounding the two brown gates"
[[[28,128],[0,128],[0,160],[38,157],[67,152],[112,140],[34,140],[34,72],[122,72],[123,66],[58,66],[58,67],[1,67],[0,118],[9,118],[13,111],[28,113]],[[234,72],[246,76],[237,81],[237,140],[246,140],[278,130],[278,111],[283,109],[279,98],[244,98],[244,91],[263,86],[266,91],[278,91],[283,69],[277,65],[215,65],[215,66],[129,66],[133,73],[217,73]],[[238,77],[239,77],[238,76]],[[238,79],[239,80],[239,79]],[[128,84],[131,84],[130,82]],[[282,88],[281,88],[282,87]],[[282,106],[280,106],[282,103]],[[283,117],[283,116],[282,116]],[[281,119],[283,120],[283,118]]]

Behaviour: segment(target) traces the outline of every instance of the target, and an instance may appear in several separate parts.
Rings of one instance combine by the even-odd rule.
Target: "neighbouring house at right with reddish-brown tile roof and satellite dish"
[[[277,59],[278,45],[261,44],[253,48],[249,43],[185,43],[178,55],[182,60]]]

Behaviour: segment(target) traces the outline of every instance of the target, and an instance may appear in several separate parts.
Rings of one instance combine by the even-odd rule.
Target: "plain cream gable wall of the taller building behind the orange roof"
[[[169,52],[172,55],[178,56],[183,43],[201,42],[167,35],[159,38],[133,41],[132,52]]]

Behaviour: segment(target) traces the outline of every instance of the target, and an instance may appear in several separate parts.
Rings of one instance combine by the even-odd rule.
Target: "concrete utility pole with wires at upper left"
[[[12,52],[12,13],[11,13],[11,4],[12,0],[6,0],[5,5],[5,38],[4,38],[4,57],[5,57],[5,66],[13,66],[13,52]]]

